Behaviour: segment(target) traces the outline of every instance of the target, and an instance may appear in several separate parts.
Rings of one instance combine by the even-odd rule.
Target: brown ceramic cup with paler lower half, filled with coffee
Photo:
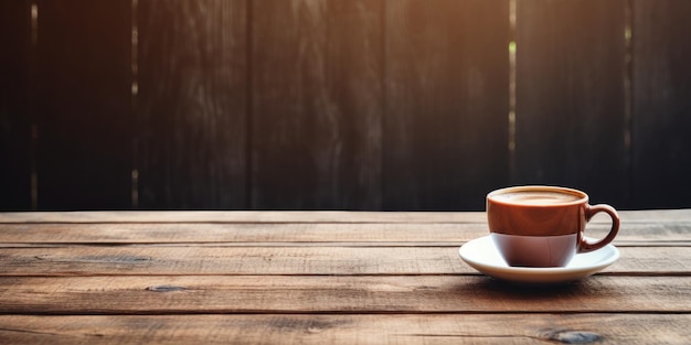
[[[591,241],[591,218],[612,217],[609,234]],[[490,236],[509,266],[564,267],[577,252],[599,249],[617,236],[619,216],[609,205],[589,205],[587,194],[556,186],[515,186],[487,195]]]

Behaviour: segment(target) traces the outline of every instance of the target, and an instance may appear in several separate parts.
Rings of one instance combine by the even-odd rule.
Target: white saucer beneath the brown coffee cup
[[[466,263],[487,276],[528,283],[578,280],[606,268],[619,258],[619,250],[613,245],[607,245],[595,251],[575,255],[566,267],[510,267],[501,258],[489,236],[476,238],[463,245],[458,254]]]

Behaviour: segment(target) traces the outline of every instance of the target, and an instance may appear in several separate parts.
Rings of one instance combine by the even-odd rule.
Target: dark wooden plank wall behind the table
[[[676,0],[0,0],[0,209],[483,209],[512,184],[691,207],[689,18]]]

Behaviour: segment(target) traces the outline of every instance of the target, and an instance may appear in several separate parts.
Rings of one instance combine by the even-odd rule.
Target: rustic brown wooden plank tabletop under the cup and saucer
[[[483,213],[3,213],[0,344],[691,344],[691,209],[621,219],[617,262],[535,287],[459,259]]]

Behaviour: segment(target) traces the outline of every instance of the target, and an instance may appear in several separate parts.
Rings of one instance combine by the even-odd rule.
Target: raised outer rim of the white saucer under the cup
[[[482,244],[480,244],[482,242]],[[507,281],[514,282],[530,282],[530,283],[555,283],[555,282],[567,282],[575,281],[588,276],[592,276],[619,259],[619,250],[613,244],[608,244],[605,247],[592,251],[598,252],[603,250],[608,250],[610,252],[609,256],[604,258],[603,260],[596,260],[593,265],[580,266],[580,267],[570,267],[568,265],[565,267],[511,267],[507,263],[498,266],[493,262],[487,262],[482,260],[478,260],[477,256],[472,257],[468,255],[468,251],[471,250],[474,246],[486,245],[485,242],[490,244],[490,248],[495,250],[497,248],[491,242],[491,238],[489,235],[481,236],[475,238],[472,240],[467,241],[460,248],[458,248],[458,255],[460,259],[465,261],[467,265],[489,277],[498,278]],[[465,249],[464,249],[465,248]],[[591,254],[592,254],[591,252]],[[582,256],[587,254],[576,254],[576,256]]]

